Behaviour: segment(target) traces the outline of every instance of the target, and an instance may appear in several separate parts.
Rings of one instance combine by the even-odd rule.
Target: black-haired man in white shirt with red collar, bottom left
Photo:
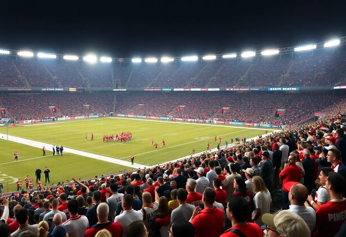
[[[70,218],[62,223],[62,226],[69,227],[69,237],[84,237],[86,229],[89,228],[88,218],[78,214],[79,205],[76,199],[70,200],[67,208],[70,212]]]

